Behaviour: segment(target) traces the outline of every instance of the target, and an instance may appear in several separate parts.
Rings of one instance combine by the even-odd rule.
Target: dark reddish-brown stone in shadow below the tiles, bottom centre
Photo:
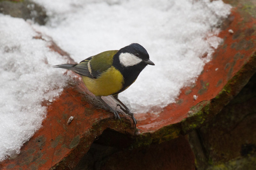
[[[188,140],[184,136],[180,136],[171,141],[161,144],[152,144],[138,149],[117,149],[114,146],[108,147],[96,145],[95,149],[90,149],[75,170],[85,169],[172,169],[172,170],[195,170],[194,154],[188,144]],[[115,149],[117,151],[115,151]],[[90,152],[93,150],[92,152]],[[106,155],[106,151],[108,154]],[[113,153],[115,151],[115,153]],[[100,160],[95,160],[97,155],[101,156]],[[90,161],[88,161],[90,160]],[[91,163],[88,166],[88,163]]]

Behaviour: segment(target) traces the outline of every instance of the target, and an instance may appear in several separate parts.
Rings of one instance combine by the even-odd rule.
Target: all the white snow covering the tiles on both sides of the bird
[[[35,30],[52,37],[77,63],[140,43],[156,65],[119,94],[139,114],[175,102],[180,89],[195,82],[222,41],[218,26],[231,9],[220,0],[33,1],[50,16],[45,26],[0,14],[0,160],[19,153],[46,115],[42,101],[59,96],[70,78],[51,67],[67,61],[47,42],[33,39]]]

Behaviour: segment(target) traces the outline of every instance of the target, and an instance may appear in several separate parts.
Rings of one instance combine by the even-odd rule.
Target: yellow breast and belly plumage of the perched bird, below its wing
[[[111,66],[100,77],[94,79],[82,76],[84,84],[95,96],[108,96],[122,89],[124,78],[122,74]]]

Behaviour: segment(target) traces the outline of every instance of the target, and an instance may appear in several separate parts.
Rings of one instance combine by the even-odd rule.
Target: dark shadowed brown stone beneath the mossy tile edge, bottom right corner
[[[189,133],[198,170],[256,167],[256,74],[212,120]]]

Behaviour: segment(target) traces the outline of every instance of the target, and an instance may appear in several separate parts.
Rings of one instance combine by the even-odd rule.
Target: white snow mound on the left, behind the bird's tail
[[[42,101],[60,95],[69,78],[52,68],[67,61],[34,36],[23,19],[0,14],[0,160],[19,153],[41,127]]]

